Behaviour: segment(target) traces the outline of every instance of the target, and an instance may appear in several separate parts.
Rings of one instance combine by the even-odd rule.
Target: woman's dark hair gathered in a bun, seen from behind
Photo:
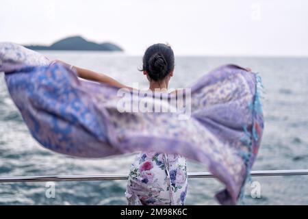
[[[168,44],[157,43],[146,49],[142,71],[154,81],[164,79],[175,68],[175,55]]]

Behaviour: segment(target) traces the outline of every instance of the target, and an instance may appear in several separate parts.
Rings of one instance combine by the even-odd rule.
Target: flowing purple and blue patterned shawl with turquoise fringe
[[[119,112],[118,88],[79,79],[18,44],[0,43],[0,72],[31,135],[45,148],[77,157],[179,154],[204,164],[225,185],[216,194],[221,204],[238,202],[264,128],[255,73],[229,64],[203,75],[191,87],[191,116],[183,120],[178,112]]]

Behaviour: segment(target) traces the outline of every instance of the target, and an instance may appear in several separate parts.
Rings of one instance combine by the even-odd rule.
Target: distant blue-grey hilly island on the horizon
[[[49,47],[42,45],[25,45],[25,47],[33,50],[123,51],[123,49],[116,44],[110,42],[97,44],[85,40],[81,36],[64,38],[63,40],[51,44]]]

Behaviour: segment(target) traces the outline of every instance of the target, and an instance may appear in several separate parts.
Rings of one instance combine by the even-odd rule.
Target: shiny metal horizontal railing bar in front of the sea
[[[251,171],[251,177],[272,176],[298,176],[308,175],[308,170],[255,170]],[[188,178],[214,178],[210,172],[189,172]],[[127,174],[116,175],[54,175],[54,176],[27,176],[27,177],[0,177],[0,183],[18,182],[46,182],[46,181],[103,181],[126,180]]]

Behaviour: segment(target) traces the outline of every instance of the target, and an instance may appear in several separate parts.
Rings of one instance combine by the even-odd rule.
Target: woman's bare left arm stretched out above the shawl
[[[88,70],[85,68],[79,68],[77,66],[72,66],[70,64],[67,64],[66,62],[62,62],[60,60],[55,60],[55,62],[57,63],[61,63],[63,65],[66,66],[70,66],[70,68],[75,69],[77,72],[77,75],[83,79],[87,79],[90,81],[97,81],[97,82],[101,82],[101,83],[107,83],[111,86],[115,86],[117,88],[129,88],[131,89],[131,87],[129,86],[125,86],[123,83],[120,83],[118,81],[116,81],[116,79],[113,79],[112,77],[109,77],[107,75],[101,74],[101,73],[96,73],[92,70]]]

